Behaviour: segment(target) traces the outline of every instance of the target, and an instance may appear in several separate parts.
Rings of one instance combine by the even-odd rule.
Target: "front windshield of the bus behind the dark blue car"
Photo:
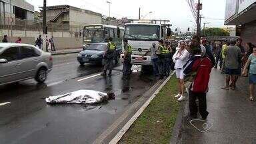
[[[103,29],[85,29],[83,31],[85,43],[100,43],[104,41]]]

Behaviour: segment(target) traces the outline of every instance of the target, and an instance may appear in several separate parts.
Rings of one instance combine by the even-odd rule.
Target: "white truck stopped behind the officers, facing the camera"
[[[143,55],[150,49],[152,43],[157,44],[160,39],[166,38],[167,29],[169,28],[165,24],[127,23],[123,39],[127,39],[132,47],[131,63],[133,65],[151,65],[150,53],[146,56]]]

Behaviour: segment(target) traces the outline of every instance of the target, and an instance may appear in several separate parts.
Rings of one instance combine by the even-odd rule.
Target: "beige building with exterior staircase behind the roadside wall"
[[[72,37],[79,37],[79,31],[85,25],[102,23],[102,15],[100,13],[79,9],[70,5],[47,7],[46,15],[49,25],[69,25]]]

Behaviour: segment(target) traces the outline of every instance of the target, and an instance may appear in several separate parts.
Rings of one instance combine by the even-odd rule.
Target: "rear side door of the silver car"
[[[37,64],[40,63],[40,55],[34,47],[22,46],[21,51],[21,72],[23,79],[35,77]]]

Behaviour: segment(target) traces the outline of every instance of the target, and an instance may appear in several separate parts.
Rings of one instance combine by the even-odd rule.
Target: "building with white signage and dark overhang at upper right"
[[[225,25],[236,25],[236,35],[256,45],[256,0],[226,0]]]

